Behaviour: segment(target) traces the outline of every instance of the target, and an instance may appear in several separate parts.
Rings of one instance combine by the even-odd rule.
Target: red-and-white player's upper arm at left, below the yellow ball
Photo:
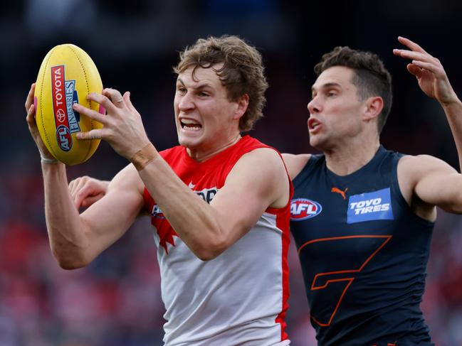
[[[142,183],[129,165],[115,175],[106,195],[80,215],[92,243],[92,259],[122,237],[142,206]]]

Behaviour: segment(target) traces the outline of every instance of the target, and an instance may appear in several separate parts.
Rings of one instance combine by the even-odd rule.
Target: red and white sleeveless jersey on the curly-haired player
[[[238,159],[256,148],[268,146],[244,136],[201,163],[182,146],[160,154],[194,193],[210,202]],[[292,191],[290,183],[290,195]],[[283,208],[268,208],[246,235],[211,261],[201,261],[182,242],[146,188],[145,205],[156,229],[167,309],[165,345],[290,344],[284,321],[289,296],[289,202]]]

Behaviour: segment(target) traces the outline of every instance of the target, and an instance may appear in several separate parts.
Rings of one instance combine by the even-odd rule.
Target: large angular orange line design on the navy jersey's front
[[[354,239],[354,238],[384,238],[385,240],[382,243],[382,245],[380,245],[369,257],[367,257],[366,261],[364,261],[364,263],[359,267],[359,269],[349,269],[349,270],[342,270],[342,271],[329,271],[327,273],[319,273],[319,274],[315,275],[315,277],[313,279],[313,283],[311,284],[311,288],[310,288],[312,291],[326,288],[329,285],[329,283],[339,282],[339,281],[348,281],[347,286],[345,286],[345,288],[344,288],[344,290],[342,292],[342,295],[340,296],[340,298],[339,298],[339,300],[338,300],[338,302],[337,302],[337,304],[335,306],[335,309],[332,312],[332,315],[330,315],[329,321],[327,323],[321,323],[316,318],[314,318],[313,315],[310,315],[310,318],[312,318],[315,321],[315,323],[317,323],[321,327],[328,327],[332,323],[332,320],[334,319],[334,316],[337,313],[337,310],[338,310],[338,308],[340,306],[340,303],[342,303],[343,297],[345,296],[345,293],[346,293],[347,289],[350,288],[350,285],[355,280],[355,278],[350,277],[350,278],[344,278],[344,279],[327,280],[325,282],[325,284],[322,285],[322,286],[316,286],[317,279],[319,279],[321,276],[328,276],[328,275],[335,275],[335,274],[346,274],[346,273],[347,274],[359,273],[359,271],[362,271],[362,269],[364,269],[364,266],[366,266],[369,263],[369,261],[377,254],[377,252],[379,252],[382,249],[382,247],[384,247],[385,244],[387,244],[387,242],[389,242],[389,240],[392,239],[392,236],[391,235],[351,235],[351,236],[345,236],[345,237],[320,238],[320,239],[310,240],[309,242],[305,242],[305,244],[303,244],[298,249],[298,254],[300,255],[300,251],[304,247],[308,246],[309,244],[313,244],[315,242],[329,242],[329,241],[332,241],[332,240]]]

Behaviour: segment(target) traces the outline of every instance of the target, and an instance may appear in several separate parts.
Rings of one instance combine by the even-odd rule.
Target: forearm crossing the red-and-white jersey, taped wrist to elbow
[[[156,153],[140,178],[170,225],[196,256],[211,259],[224,249],[224,232],[214,208],[194,194]]]

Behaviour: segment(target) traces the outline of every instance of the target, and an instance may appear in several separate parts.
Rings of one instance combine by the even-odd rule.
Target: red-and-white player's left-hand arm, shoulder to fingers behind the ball
[[[51,250],[64,269],[90,263],[119,239],[139,214],[142,182],[132,165],[112,180],[107,194],[79,215],[68,190],[65,165],[53,160],[38,133],[33,106],[34,85],[26,99],[26,121],[41,151],[45,215]]]

